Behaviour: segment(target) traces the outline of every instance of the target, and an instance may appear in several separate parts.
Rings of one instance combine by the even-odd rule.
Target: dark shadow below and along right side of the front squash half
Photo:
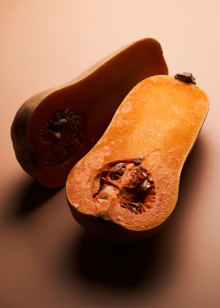
[[[199,138],[183,168],[174,213],[157,235],[141,242],[119,244],[84,232],[65,251],[65,279],[71,283],[80,277],[84,282],[96,284],[100,292],[106,285],[111,290],[120,287],[139,292],[143,288],[147,292],[156,289],[154,286],[159,283],[166,283],[180,262],[177,252],[181,250],[180,221],[187,215],[189,187],[201,176],[204,155],[205,143]]]

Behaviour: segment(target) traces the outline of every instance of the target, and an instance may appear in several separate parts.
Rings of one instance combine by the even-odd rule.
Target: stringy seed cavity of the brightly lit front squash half
[[[139,159],[137,159],[139,161]],[[155,201],[154,178],[145,166],[134,161],[109,165],[98,175],[99,189],[94,194],[98,203],[114,198],[123,211],[138,215],[152,208]],[[108,197],[103,198],[103,195]]]

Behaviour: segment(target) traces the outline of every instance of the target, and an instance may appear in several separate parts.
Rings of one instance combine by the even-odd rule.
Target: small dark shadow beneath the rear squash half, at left
[[[11,188],[13,193],[8,197],[9,216],[12,219],[23,219],[33,214],[47,200],[58,193],[62,187],[48,188],[32,178],[25,178]]]

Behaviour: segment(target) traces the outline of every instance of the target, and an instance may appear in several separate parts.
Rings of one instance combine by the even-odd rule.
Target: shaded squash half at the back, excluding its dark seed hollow
[[[11,125],[21,167],[42,185],[64,185],[71,168],[99,140],[126,94],[141,80],[157,74],[168,74],[163,52],[157,40],[145,38],[120,48],[68,83],[31,96]],[[82,118],[81,147],[66,161],[45,167],[45,157],[55,152],[57,141],[51,145],[42,140],[42,125],[52,113],[67,108]],[[64,139],[59,140],[57,152],[64,152]]]

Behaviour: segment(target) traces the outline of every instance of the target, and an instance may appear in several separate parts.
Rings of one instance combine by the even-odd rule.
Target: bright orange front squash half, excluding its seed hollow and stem
[[[208,110],[209,99],[203,90],[174,77],[153,76],[136,85],[101,139],[67,178],[67,202],[76,221],[109,241],[143,240],[159,232],[175,208],[183,165]],[[97,181],[97,175],[112,170],[107,166],[123,162],[126,168],[136,168],[133,162],[137,159],[138,166],[146,167],[154,177],[156,191],[151,208],[141,214],[122,208],[121,189],[117,196],[106,189],[114,186],[117,190],[120,179],[107,177],[100,186]],[[131,182],[124,183],[128,187]],[[99,203],[97,198],[106,200],[99,199],[103,202]]]

